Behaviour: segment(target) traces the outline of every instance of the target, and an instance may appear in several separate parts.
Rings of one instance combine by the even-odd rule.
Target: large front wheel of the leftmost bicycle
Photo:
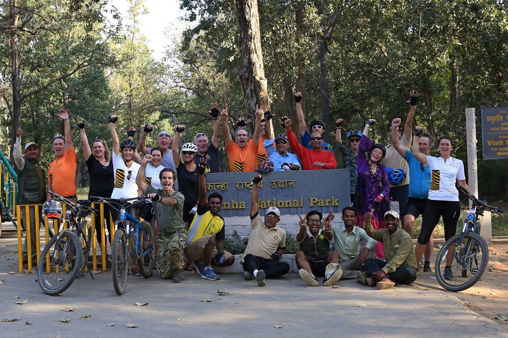
[[[76,278],[81,266],[81,242],[78,236],[69,230],[63,230],[53,236],[42,251],[37,265],[37,281],[44,293],[57,295],[67,290]],[[47,273],[46,255],[50,256],[50,268]]]

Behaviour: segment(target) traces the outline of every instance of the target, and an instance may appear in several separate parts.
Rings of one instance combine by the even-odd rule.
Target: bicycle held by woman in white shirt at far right
[[[503,210],[489,206],[471,195],[462,186],[459,189],[466,194],[472,202],[462,232],[449,239],[439,250],[435,263],[436,279],[439,284],[449,291],[463,291],[478,282],[489,261],[489,248],[480,235],[480,218],[484,211],[501,215]],[[452,274],[446,275],[447,255],[454,252]],[[458,277],[457,277],[458,276]]]

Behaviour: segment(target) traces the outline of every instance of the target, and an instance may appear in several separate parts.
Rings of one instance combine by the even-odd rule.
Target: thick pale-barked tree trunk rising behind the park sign
[[[253,130],[256,104],[262,111],[270,106],[265,78],[257,0],[236,0],[240,27],[240,81],[243,88],[244,112],[247,125]]]

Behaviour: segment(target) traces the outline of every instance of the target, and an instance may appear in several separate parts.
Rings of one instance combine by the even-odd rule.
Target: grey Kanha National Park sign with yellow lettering
[[[223,217],[248,216],[251,180],[257,173],[206,174],[208,193],[223,195]],[[347,169],[271,172],[260,183],[260,209],[277,207],[280,215],[305,215],[309,210],[335,214],[350,204]]]

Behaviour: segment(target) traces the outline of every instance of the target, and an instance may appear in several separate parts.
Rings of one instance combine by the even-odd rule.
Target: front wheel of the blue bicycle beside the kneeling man
[[[111,249],[111,273],[116,294],[123,294],[127,286],[127,268],[129,261],[129,244],[123,229],[115,231]]]

